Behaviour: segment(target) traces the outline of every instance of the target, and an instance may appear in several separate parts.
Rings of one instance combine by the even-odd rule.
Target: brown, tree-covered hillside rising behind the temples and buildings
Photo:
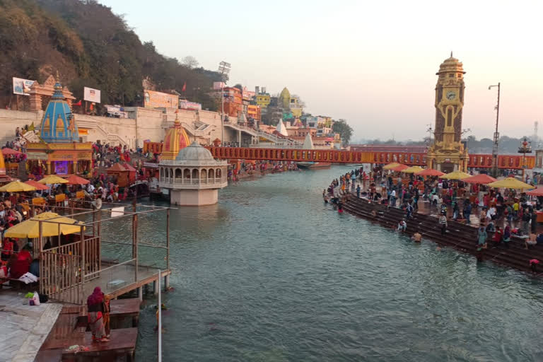
[[[0,107],[11,78],[45,81],[58,70],[77,99],[83,86],[100,89],[103,104],[141,105],[142,81],[182,93],[216,110],[207,93],[221,75],[159,54],[121,16],[94,0],[0,0]],[[185,94],[185,93],[182,93]]]

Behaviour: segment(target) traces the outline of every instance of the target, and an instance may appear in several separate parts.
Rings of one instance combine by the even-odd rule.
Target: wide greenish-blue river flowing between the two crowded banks
[[[543,361],[542,281],[338,214],[322,189],[349,169],[267,175],[172,211],[164,361]],[[138,361],[156,361],[153,303]]]

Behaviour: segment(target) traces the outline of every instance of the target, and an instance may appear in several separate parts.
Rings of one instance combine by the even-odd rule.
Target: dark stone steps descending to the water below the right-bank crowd
[[[348,200],[344,205],[345,211],[378,223],[385,228],[396,228],[397,223],[406,216],[405,211],[402,209],[376,204],[368,199],[358,198],[355,194],[349,194]],[[377,216],[373,216],[373,210],[377,211]],[[474,226],[448,221],[448,231],[445,235],[441,235],[438,218],[431,215],[414,214],[413,218],[407,219],[406,234],[411,236],[416,231],[419,231],[423,238],[431,240],[440,246],[452,247],[460,252],[477,255],[477,228]],[[512,236],[508,247],[505,247],[503,243],[493,247],[492,235],[493,233],[489,232],[489,247],[484,250],[484,261],[490,260],[506,267],[531,272],[530,260],[543,260],[543,247],[541,245],[525,249],[524,239]],[[542,276],[543,273],[539,270],[535,275]]]

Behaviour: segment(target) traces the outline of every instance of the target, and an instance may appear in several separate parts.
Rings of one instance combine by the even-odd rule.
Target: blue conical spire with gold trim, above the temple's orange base
[[[43,114],[40,137],[47,143],[79,141],[76,119],[62,94],[62,85],[58,76],[57,83],[54,83],[54,93]]]

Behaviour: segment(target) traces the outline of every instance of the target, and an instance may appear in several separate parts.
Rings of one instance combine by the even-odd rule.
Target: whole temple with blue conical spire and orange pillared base
[[[27,144],[31,173],[67,175],[91,171],[92,144],[79,139],[76,117],[64,93],[57,75],[40,124],[40,142]]]

